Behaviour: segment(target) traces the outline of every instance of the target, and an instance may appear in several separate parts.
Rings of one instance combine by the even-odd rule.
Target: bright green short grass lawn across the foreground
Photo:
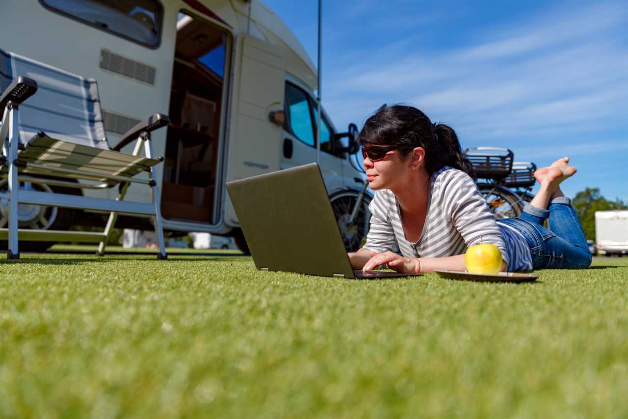
[[[628,416],[628,258],[533,284],[0,260],[0,416]]]

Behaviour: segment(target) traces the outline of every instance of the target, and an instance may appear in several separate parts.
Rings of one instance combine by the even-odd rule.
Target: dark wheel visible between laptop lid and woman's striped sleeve
[[[364,194],[360,209],[355,216],[353,222],[349,222],[351,218],[351,211],[353,211],[355,201],[359,196],[358,191],[341,191],[333,194],[330,197],[332,203],[333,215],[336,217],[338,227],[340,228],[340,235],[342,235],[342,242],[344,242],[347,252],[355,252],[364,245],[364,240],[369,232],[369,219],[371,213],[369,213],[369,203],[371,202],[371,196]]]

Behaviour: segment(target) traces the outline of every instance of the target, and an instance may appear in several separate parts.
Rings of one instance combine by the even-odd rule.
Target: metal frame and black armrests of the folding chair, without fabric
[[[9,228],[0,228],[0,240],[8,239],[8,259],[19,259],[18,237],[23,240],[33,241],[57,241],[72,240],[80,242],[96,242],[99,243],[97,255],[104,255],[107,240],[111,236],[114,224],[119,213],[131,213],[136,215],[154,216],[154,229],[158,236],[159,252],[157,258],[160,260],[167,259],[163,228],[161,223],[160,210],[160,191],[157,183],[154,181],[153,165],[146,171],[148,172],[148,180],[134,179],[133,176],[121,176],[114,174],[102,174],[100,172],[90,172],[89,170],[76,170],[53,165],[36,164],[26,162],[19,159],[18,150],[21,148],[19,144],[18,131],[18,111],[19,105],[26,99],[36,93],[37,83],[26,77],[17,77],[0,96],[0,109],[3,109],[3,117],[0,125],[0,139],[3,140],[3,150],[1,159],[4,165],[8,167],[8,199],[9,199]],[[129,130],[120,140],[120,142],[112,147],[112,152],[120,152],[125,145],[135,141],[133,156],[141,156],[142,150],[147,159],[153,159],[153,145],[151,142],[151,131],[168,125],[170,120],[168,116],[162,114],[154,114],[146,120],[138,123]],[[8,137],[7,137],[8,136]],[[45,133],[39,132],[36,137],[46,137]],[[60,141],[60,140],[56,140]],[[26,145],[28,147],[28,144]],[[87,147],[87,146],[84,146]],[[89,147],[95,148],[95,147]],[[98,148],[97,150],[101,150]],[[159,158],[160,162],[163,158]],[[36,176],[24,176],[20,174],[21,170],[29,169],[31,172],[54,174],[55,177],[68,178],[72,181],[63,181],[59,179],[47,179]],[[81,184],[74,182],[75,179],[83,179],[87,181],[100,181],[100,184]],[[85,189],[104,189],[118,186],[118,195],[115,200],[104,198],[89,198],[85,196],[77,196],[70,194],[46,193],[39,191],[19,190],[19,182],[31,182],[37,184],[49,184],[52,186],[76,187]],[[131,183],[145,184],[151,190],[151,203],[139,203],[133,201],[124,201],[124,196]],[[18,203],[35,204],[46,206],[57,206],[61,208],[73,208],[82,210],[100,210],[109,211],[109,219],[102,233],[98,232],[69,232],[61,230],[30,230],[18,228]]]

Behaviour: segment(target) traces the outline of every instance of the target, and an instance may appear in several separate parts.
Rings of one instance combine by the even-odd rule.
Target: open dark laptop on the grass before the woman
[[[257,269],[375,279],[398,272],[352,268],[316,163],[227,182]]]

